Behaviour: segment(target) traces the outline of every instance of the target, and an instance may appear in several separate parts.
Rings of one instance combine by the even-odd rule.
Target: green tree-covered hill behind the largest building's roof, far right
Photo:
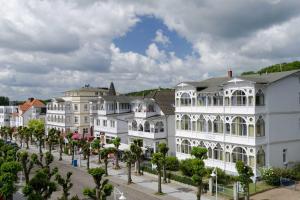
[[[300,61],[275,64],[275,65],[271,65],[268,67],[264,67],[256,72],[255,71],[243,72],[241,75],[284,72],[284,71],[291,71],[291,70],[297,70],[297,69],[300,69]]]

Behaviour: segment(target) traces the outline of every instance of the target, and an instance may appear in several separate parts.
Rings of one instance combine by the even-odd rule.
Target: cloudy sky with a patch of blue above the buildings
[[[0,0],[0,96],[174,87],[300,60],[299,0]]]

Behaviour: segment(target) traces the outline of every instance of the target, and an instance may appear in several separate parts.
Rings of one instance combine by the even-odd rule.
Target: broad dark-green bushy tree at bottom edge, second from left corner
[[[57,190],[56,183],[51,181],[47,170],[40,169],[23,188],[23,194],[27,200],[50,199],[53,192]]]

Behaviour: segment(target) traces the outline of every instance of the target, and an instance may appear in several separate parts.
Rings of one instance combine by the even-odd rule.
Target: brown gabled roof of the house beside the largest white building
[[[175,91],[154,91],[145,98],[154,99],[165,115],[174,115]]]

